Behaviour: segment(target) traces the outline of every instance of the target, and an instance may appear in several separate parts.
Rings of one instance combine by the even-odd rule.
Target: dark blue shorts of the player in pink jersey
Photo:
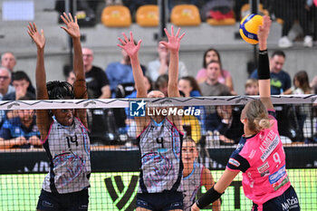
[[[261,209],[263,206],[263,209]],[[298,197],[296,195],[295,190],[293,187],[289,187],[283,195],[280,197],[274,197],[271,200],[268,200],[263,205],[256,205],[252,208],[252,211],[300,211],[300,204],[298,201]]]

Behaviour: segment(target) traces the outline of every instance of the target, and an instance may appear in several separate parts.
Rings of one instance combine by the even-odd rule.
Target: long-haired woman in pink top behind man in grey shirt
[[[197,82],[202,83],[202,82],[206,81],[206,79],[207,79],[207,71],[206,71],[207,63],[211,62],[212,60],[219,62],[220,66],[221,66],[220,75],[218,77],[218,82],[225,84],[227,87],[229,87],[230,91],[234,91],[234,84],[232,82],[231,74],[230,74],[230,72],[222,69],[220,54],[214,48],[209,48],[204,53],[203,68],[197,72],[197,76],[196,76]]]

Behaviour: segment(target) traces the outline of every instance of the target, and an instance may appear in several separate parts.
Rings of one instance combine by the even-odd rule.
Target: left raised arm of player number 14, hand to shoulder
[[[37,47],[36,69],[35,69],[35,83],[36,83],[36,99],[48,100],[48,93],[46,89],[46,73],[44,68],[44,47],[45,36],[43,29],[41,34],[38,32],[36,24],[29,23],[27,26],[27,33],[30,35]],[[40,130],[41,138],[45,139],[52,118],[48,113],[48,110],[36,110],[36,124]]]

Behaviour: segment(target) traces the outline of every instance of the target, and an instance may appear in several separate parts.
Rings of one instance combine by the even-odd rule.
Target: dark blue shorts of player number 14
[[[42,189],[37,210],[50,211],[87,211],[88,189],[70,194],[53,194]]]

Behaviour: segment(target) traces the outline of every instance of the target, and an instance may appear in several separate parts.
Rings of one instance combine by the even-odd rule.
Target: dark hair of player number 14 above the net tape
[[[75,98],[72,85],[69,82],[47,82],[46,89],[50,100]]]

